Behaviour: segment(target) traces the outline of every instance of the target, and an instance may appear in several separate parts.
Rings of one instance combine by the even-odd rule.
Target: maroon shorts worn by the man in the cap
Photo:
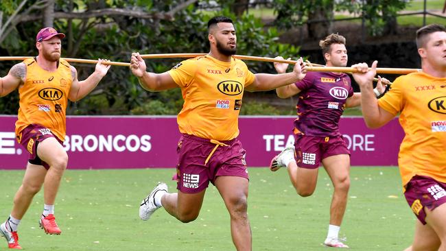
[[[58,139],[57,136],[51,133],[51,130],[43,127],[42,125],[31,124],[28,125],[21,132],[21,136],[17,137],[20,139],[19,144],[21,144],[25,150],[30,153],[29,163],[33,165],[43,165],[45,169],[49,169],[49,165],[45,163],[45,161],[40,160],[37,156],[37,145],[47,138],[55,138],[59,141],[60,145],[63,145],[63,142]]]

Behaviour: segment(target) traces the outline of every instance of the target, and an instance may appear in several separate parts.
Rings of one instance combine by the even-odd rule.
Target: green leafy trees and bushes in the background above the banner
[[[246,13],[248,0],[216,1],[215,12],[203,11],[198,0],[2,0],[0,2],[0,55],[36,55],[35,36],[42,27],[53,26],[67,37],[62,57],[108,58],[128,62],[140,53],[207,52],[207,21],[215,14],[230,16],[237,29],[237,53],[253,56],[297,56],[298,47],[277,43],[280,31],[308,25],[309,34],[321,38],[330,32],[334,10],[368,11],[370,22],[388,25],[386,13],[396,13],[406,1],[367,0],[370,10],[357,1],[277,0],[268,5],[277,12],[277,27],[264,27],[260,19]],[[386,10],[390,9],[390,12]],[[395,16],[395,15],[394,15]],[[378,22],[376,20],[382,20]],[[375,21],[374,21],[375,20]],[[375,25],[376,26],[376,25]],[[382,29],[384,31],[384,29]],[[146,60],[148,69],[167,71],[179,59]],[[0,74],[17,62],[3,61]],[[272,64],[247,62],[253,72],[274,73]],[[83,80],[94,65],[73,64]],[[69,115],[174,115],[183,105],[180,90],[161,93],[144,91],[126,67],[112,67],[104,80],[86,98],[71,103]],[[18,92],[0,99],[3,114],[16,114]],[[263,104],[244,104],[243,114],[272,112]]]

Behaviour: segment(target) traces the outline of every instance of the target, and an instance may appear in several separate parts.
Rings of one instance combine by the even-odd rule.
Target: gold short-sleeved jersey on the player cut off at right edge
[[[398,77],[379,99],[384,110],[399,115],[406,135],[399,149],[403,186],[415,175],[446,182],[446,77],[410,73]]]

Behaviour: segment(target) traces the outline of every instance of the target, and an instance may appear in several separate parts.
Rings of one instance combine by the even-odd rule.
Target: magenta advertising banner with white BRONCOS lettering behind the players
[[[240,117],[239,139],[249,167],[266,167],[293,143],[294,117]],[[15,140],[16,116],[0,116],[0,169],[24,169],[29,156]],[[397,165],[403,130],[397,119],[378,130],[361,117],[342,117],[351,165]],[[69,169],[175,167],[176,117],[68,117],[64,148]]]

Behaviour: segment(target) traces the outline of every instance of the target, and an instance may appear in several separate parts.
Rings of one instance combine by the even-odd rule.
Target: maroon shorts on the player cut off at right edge
[[[413,176],[406,184],[404,196],[412,211],[423,225],[426,224],[426,212],[446,203],[446,183],[427,176]]]

